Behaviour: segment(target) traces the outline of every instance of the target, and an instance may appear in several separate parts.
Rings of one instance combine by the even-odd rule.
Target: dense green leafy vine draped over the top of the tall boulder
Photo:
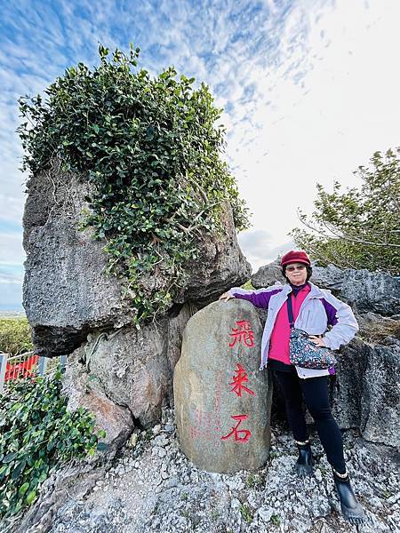
[[[139,325],[172,305],[202,236],[222,234],[224,203],[237,230],[248,210],[221,158],[221,110],[206,85],[194,89],[174,68],[151,78],[132,44],[129,55],[99,52],[100,66],[79,63],[44,99],[20,99],[22,168],[35,175],[58,158],[94,186],[85,226],[106,241],[108,272],[124,278]]]

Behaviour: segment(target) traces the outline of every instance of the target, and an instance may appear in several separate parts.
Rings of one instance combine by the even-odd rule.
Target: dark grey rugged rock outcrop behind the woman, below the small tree
[[[400,283],[368,270],[314,267],[312,282],[353,307],[360,330],[340,349],[331,381],[332,410],[341,428],[400,447]],[[256,289],[284,282],[276,260],[252,275]],[[279,404],[279,399],[276,402]]]

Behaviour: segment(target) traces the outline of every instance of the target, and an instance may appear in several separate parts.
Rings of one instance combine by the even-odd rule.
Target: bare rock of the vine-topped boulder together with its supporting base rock
[[[108,426],[108,434],[119,442],[133,423],[155,422],[161,406],[172,398],[172,373],[191,314],[247,281],[251,267],[237,244],[227,204],[225,235],[199,240],[202,259],[188,265],[187,283],[169,312],[137,330],[132,309],[122,298],[123,282],[105,273],[105,242],[93,240],[91,228],[82,229],[91,187],[61,171],[57,161],[29,180],[24,306],[36,354],[70,355],[66,391],[71,408],[90,406],[99,426]],[[160,282],[147,276],[142,284],[151,288]],[[109,426],[113,417],[105,399],[124,411],[120,426]]]

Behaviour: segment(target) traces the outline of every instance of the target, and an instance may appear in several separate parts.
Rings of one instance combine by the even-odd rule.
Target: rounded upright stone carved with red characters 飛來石
[[[259,370],[261,334],[257,311],[239,299],[214,302],[188,321],[173,378],[175,416],[181,449],[203,470],[252,470],[267,460],[272,388]]]

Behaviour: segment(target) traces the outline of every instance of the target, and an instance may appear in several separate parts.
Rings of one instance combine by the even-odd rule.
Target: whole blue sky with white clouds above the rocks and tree
[[[253,269],[290,246],[316,182],[398,145],[397,0],[3,0],[0,10],[0,310],[21,308],[24,182],[16,99],[36,94],[99,41],[140,46],[140,66],[174,65],[225,108],[226,157],[250,207],[239,242]]]

